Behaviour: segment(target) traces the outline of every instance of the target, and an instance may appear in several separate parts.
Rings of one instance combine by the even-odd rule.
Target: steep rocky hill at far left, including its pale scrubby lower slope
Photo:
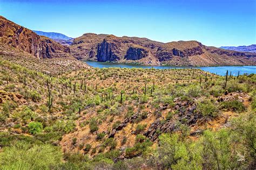
[[[52,39],[38,36],[0,16],[0,59],[26,68],[57,75],[80,68],[90,68],[70,55],[70,48]]]

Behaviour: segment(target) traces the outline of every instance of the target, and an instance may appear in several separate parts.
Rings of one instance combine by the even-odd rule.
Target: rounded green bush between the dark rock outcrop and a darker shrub
[[[210,100],[198,102],[197,112],[204,117],[217,117],[219,115],[218,107]]]

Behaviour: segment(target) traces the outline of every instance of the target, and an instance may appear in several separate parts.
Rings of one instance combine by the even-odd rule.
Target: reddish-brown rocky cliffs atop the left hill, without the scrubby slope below
[[[70,56],[70,48],[17,25],[0,16],[0,45],[18,48],[36,58],[59,58]],[[10,50],[11,51],[11,50]]]

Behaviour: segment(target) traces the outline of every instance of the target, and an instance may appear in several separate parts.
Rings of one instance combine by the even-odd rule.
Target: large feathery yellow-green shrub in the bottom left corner
[[[20,142],[3,148],[0,153],[0,168],[50,169],[51,165],[58,165],[61,159],[62,152],[58,147]]]

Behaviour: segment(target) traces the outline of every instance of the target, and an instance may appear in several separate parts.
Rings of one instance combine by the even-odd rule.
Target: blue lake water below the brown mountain
[[[218,66],[218,67],[179,67],[179,66],[143,66],[143,65],[132,65],[125,63],[112,63],[112,62],[98,62],[98,61],[85,61],[88,65],[98,68],[108,68],[108,67],[119,67],[119,68],[156,68],[156,69],[182,69],[182,68],[196,68],[201,69],[206,72],[215,73],[218,75],[225,75],[227,70],[228,74],[236,76],[239,74],[256,74],[256,66]]]

